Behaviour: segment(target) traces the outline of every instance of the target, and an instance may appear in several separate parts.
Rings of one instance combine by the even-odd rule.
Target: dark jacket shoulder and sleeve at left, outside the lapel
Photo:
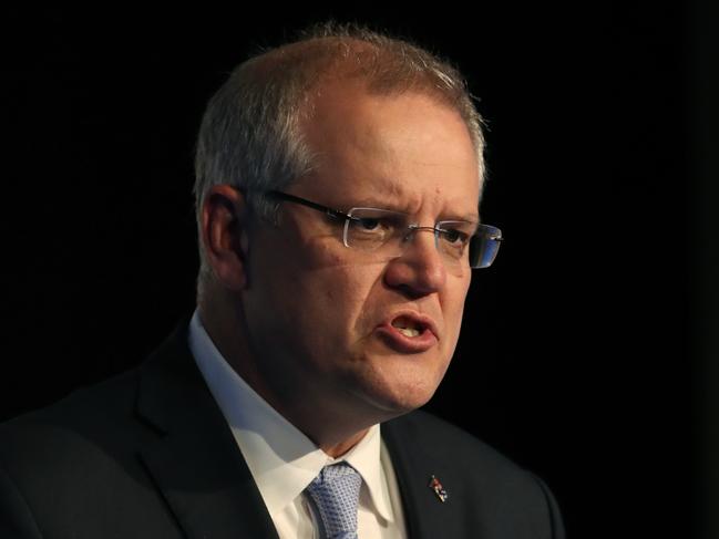
[[[158,437],[137,384],[130,371],[0,425],[0,537],[175,537],[140,458]]]

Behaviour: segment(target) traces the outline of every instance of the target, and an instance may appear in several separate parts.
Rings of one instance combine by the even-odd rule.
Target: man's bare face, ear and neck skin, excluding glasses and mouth
[[[477,156],[459,114],[427,95],[323,87],[302,125],[317,154],[288,193],[347,210],[398,209],[423,226],[477,217]],[[448,271],[432,234],[378,261],[349,249],[341,226],[283,204],[278,226],[249,218],[242,194],[216,186],[202,211],[215,279],[205,328],[238,374],[332,456],[367,429],[423,405],[460,334],[469,267]],[[436,341],[399,351],[378,326],[398,312],[430,317]]]

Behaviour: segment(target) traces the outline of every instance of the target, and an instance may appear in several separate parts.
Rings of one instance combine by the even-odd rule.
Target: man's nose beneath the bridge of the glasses
[[[436,249],[434,230],[418,228],[404,241],[402,255],[387,266],[384,282],[412,297],[441,290],[446,282],[446,267]]]

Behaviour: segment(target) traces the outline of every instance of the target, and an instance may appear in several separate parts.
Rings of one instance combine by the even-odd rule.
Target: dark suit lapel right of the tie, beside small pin
[[[382,438],[400,487],[408,537],[461,537],[461,531],[455,530],[458,502],[443,502],[430,487],[432,476],[442,480],[446,471],[418,445],[422,433],[413,433],[400,418],[382,424]]]

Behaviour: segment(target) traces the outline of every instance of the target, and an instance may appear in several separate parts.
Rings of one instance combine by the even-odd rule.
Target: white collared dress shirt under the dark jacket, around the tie
[[[189,323],[189,349],[245,457],[280,539],[318,537],[302,491],[325,465],[340,460],[347,460],[362,476],[359,537],[407,537],[397,477],[379,425],[372,426],[352,449],[332,458],[233,370],[203,328],[197,311]]]

